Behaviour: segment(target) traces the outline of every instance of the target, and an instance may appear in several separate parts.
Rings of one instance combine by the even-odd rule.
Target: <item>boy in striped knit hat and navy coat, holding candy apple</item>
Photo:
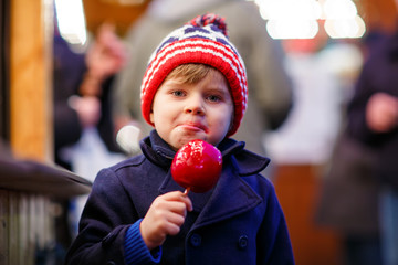
[[[230,139],[247,106],[243,62],[223,19],[198,17],[171,32],[149,60],[144,118],[155,130],[143,155],[102,170],[67,264],[294,264],[269,159]],[[171,178],[192,139],[217,146],[223,169],[206,193],[185,195]]]

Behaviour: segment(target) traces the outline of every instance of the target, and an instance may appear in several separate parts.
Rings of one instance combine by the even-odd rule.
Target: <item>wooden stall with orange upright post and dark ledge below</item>
[[[0,264],[41,264],[55,245],[53,200],[86,194],[91,183],[52,165],[53,2],[0,7]]]

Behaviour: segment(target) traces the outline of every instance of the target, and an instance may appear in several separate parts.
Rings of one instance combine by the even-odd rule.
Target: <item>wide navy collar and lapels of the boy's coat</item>
[[[262,201],[261,197],[242,177],[260,172],[270,160],[244,150],[244,142],[238,142],[233,139],[223,140],[218,148],[223,159],[223,169],[219,182],[209,192],[189,193],[193,203],[193,211],[200,212],[192,229],[249,211]],[[167,174],[159,187],[159,193],[184,191],[172,180],[169,170],[176,152],[155,130],[142,141],[142,149],[150,161],[167,169]]]

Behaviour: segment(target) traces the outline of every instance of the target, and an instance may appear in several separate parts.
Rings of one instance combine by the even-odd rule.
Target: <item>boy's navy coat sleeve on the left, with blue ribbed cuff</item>
[[[119,179],[111,169],[103,169],[94,181],[82,214],[78,235],[69,250],[65,264],[150,263],[153,259],[145,244],[135,244],[134,250],[129,247],[130,253],[140,253],[142,263],[125,262],[126,233],[130,234],[129,242],[142,240],[139,223],[134,204]],[[134,230],[135,235],[132,233]],[[130,257],[130,261],[134,258]]]

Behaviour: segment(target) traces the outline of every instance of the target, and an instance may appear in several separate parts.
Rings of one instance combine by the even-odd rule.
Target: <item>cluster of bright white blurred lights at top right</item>
[[[318,20],[332,39],[362,38],[366,24],[352,0],[254,0],[273,39],[313,39]]]

